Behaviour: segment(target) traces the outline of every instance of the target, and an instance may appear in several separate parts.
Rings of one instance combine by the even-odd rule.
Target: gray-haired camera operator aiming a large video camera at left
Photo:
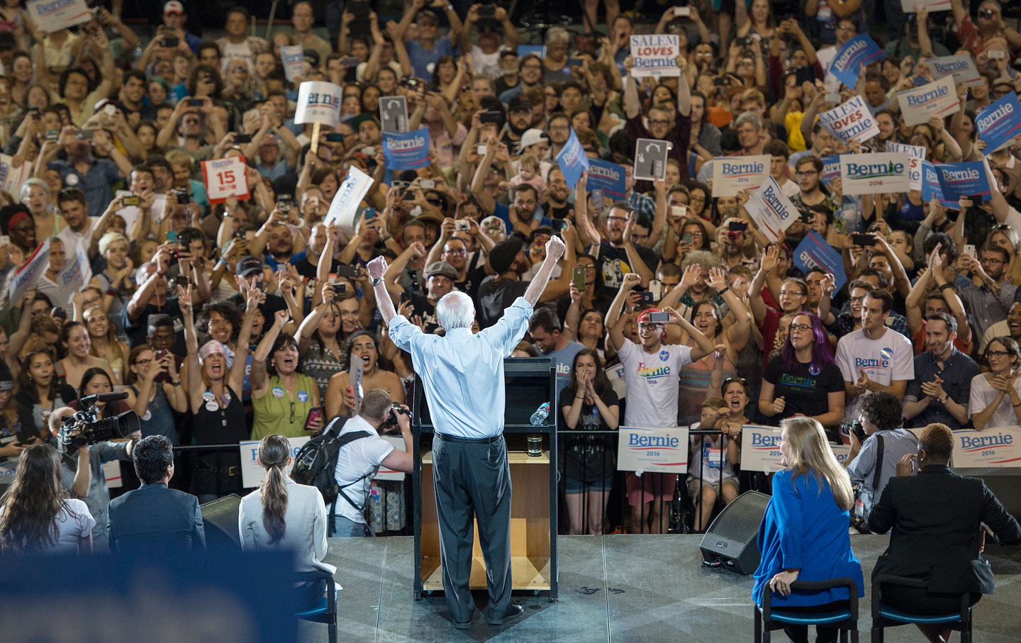
[[[69,406],[54,410],[49,416],[50,431],[58,436],[65,422],[81,425],[81,415]],[[66,421],[64,418],[67,418]],[[74,418],[74,419],[72,419]],[[81,431],[80,427],[76,427]],[[75,498],[81,498],[89,507],[89,512],[96,520],[92,530],[93,550],[105,553],[108,549],[106,534],[106,507],[110,502],[110,492],[106,488],[106,477],[103,476],[103,462],[110,460],[129,460],[135,450],[135,442],[142,438],[142,433],[136,431],[129,436],[127,442],[97,442],[80,446],[66,446],[57,440],[57,453],[60,455],[60,478],[64,489]],[[76,457],[77,456],[77,457]]]

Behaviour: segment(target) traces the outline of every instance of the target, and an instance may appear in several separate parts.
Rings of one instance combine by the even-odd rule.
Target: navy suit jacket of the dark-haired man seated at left
[[[106,525],[114,552],[205,549],[198,498],[158,483],[110,500]]]

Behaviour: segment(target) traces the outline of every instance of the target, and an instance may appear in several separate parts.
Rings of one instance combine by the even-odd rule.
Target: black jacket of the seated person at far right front
[[[1021,542],[1021,527],[978,478],[936,464],[891,478],[869,514],[873,532],[893,529],[872,577],[922,579],[931,592],[991,594],[992,571],[978,551],[980,523],[1002,544]]]

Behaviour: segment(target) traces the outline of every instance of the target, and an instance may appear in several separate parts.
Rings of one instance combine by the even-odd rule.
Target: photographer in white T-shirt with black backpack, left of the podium
[[[347,538],[368,535],[369,527],[362,512],[368,501],[369,485],[381,464],[395,472],[411,473],[414,438],[408,414],[394,413],[400,427],[400,435],[404,438],[403,451],[394,448],[379,436],[379,428],[387,422],[392,407],[393,400],[389,393],[383,389],[373,389],[362,398],[360,412],[348,419],[340,431],[341,436],[355,431],[366,431],[372,435],[352,440],[337,453],[334,479],[343,493],[337,494],[333,518],[334,536]],[[404,409],[407,410],[407,407]]]

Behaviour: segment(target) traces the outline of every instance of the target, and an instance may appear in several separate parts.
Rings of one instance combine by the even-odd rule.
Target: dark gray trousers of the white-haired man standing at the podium
[[[486,561],[489,604],[485,613],[502,619],[510,605],[510,467],[502,436],[469,440],[436,434],[433,482],[440,527],[440,562],[447,609],[454,623],[469,623],[475,601],[469,590],[472,516]]]

